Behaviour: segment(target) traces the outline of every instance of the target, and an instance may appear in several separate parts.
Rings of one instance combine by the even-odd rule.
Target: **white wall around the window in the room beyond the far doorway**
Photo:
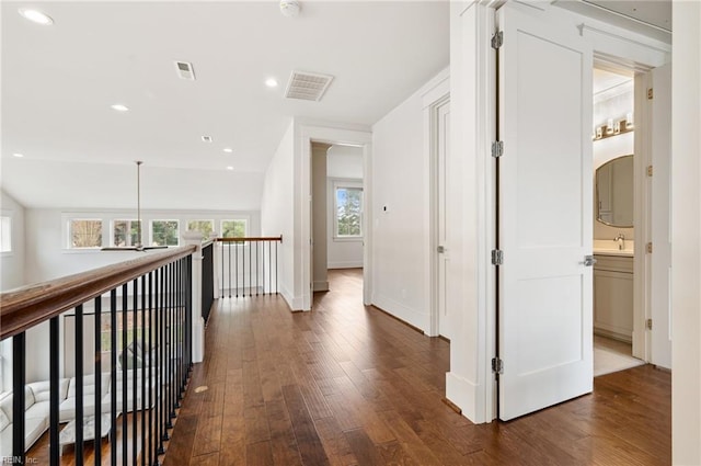
[[[350,269],[363,266],[363,239],[336,240],[333,237],[333,183],[350,181],[363,186],[363,148],[350,146],[332,146],[327,152],[326,166],[326,231],[327,231],[327,266],[329,269]]]

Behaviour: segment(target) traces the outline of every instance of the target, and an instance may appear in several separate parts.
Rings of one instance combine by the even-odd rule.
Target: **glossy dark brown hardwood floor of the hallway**
[[[597,377],[593,395],[474,425],[441,401],[449,343],[364,307],[359,270],[330,281],[312,312],[219,302],[166,466],[670,464],[668,373]]]

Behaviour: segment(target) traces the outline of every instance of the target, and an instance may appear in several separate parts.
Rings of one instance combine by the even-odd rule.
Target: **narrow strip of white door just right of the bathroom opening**
[[[671,65],[655,68],[652,73],[652,212],[651,232],[651,314],[653,364],[671,368]]]

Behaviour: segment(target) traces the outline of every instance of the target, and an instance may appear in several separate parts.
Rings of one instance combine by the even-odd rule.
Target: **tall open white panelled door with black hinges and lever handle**
[[[518,8],[497,12],[502,420],[593,388],[591,50]]]

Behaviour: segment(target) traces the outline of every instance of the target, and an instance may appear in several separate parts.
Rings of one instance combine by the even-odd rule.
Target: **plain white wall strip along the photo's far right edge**
[[[671,459],[701,464],[701,3],[673,2]]]

